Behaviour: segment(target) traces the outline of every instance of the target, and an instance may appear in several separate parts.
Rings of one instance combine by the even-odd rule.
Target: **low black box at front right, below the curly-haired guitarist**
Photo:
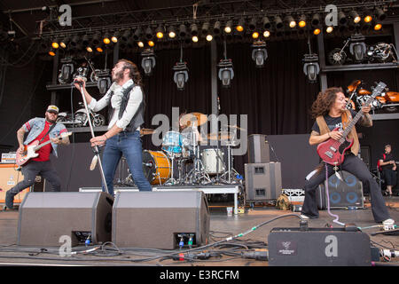
[[[273,228],[268,237],[270,266],[370,266],[370,237],[344,228]]]

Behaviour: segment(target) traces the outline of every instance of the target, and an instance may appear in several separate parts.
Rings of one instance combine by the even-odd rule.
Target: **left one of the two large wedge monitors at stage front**
[[[59,247],[61,236],[71,245],[86,240],[111,241],[113,197],[108,193],[27,193],[20,205],[17,244]]]

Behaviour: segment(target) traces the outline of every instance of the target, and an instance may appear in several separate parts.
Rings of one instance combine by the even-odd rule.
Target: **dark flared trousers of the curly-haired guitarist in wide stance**
[[[334,173],[332,168],[332,165],[327,165],[328,177]],[[345,156],[344,162],[340,165],[340,170],[350,172],[352,175],[360,179],[364,187],[368,186],[368,188],[370,188],[372,198],[372,216],[374,217],[375,222],[379,223],[390,218],[379,185],[374,178],[372,178],[372,174],[362,160],[357,158],[354,154],[348,154]],[[303,201],[302,214],[310,218],[318,217],[316,191],[317,186],[324,183],[324,181],[325,165],[319,173],[310,177],[310,179],[305,183],[305,200]]]

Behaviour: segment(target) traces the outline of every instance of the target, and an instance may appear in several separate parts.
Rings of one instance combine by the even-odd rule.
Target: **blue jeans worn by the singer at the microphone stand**
[[[108,193],[113,195],[113,177],[121,160],[122,154],[129,165],[130,173],[139,191],[152,191],[148,179],[143,172],[143,150],[141,146],[140,132],[122,131],[106,140],[106,147],[102,157],[104,176]],[[106,191],[103,185],[103,191]]]

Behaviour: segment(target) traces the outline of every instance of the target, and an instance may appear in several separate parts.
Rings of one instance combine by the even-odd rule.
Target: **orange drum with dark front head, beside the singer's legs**
[[[143,151],[143,171],[152,185],[162,185],[170,177],[171,164],[162,151]]]

